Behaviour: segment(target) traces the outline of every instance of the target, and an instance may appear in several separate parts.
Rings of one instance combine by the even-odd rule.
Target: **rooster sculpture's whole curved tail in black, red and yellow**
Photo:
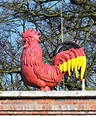
[[[75,72],[78,78],[78,70],[81,70],[80,78],[83,79],[86,69],[86,55],[83,49],[74,42],[64,42],[57,46],[54,52],[53,63],[61,72]]]

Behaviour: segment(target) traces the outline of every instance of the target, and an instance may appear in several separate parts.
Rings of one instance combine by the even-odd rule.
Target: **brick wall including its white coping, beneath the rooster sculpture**
[[[49,114],[95,116],[96,92],[0,92],[0,116]]]

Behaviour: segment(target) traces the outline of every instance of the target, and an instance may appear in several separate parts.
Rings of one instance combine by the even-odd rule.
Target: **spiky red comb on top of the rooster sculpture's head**
[[[28,37],[31,37],[31,38],[33,38],[34,40],[36,39],[36,40],[40,41],[40,40],[39,40],[40,35],[38,34],[38,32],[35,32],[34,29],[32,29],[32,30],[30,30],[30,29],[25,30],[25,31],[23,32],[23,34],[22,34],[22,37],[23,37],[24,39],[26,39],[26,38],[28,38]]]

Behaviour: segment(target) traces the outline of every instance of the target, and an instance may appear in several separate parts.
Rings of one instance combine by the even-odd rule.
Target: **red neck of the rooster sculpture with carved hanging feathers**
[[[22,62],[25,65],[40,64],[42,62],[42,49],[37,41],[28,45],[22,54]]]

